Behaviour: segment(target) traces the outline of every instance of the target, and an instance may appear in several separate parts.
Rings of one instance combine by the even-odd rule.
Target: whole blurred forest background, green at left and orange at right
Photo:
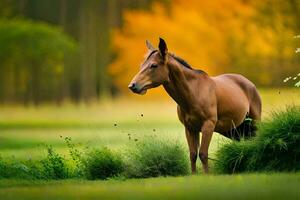
[[[127,95],[158,37],[194,68],[259,87],[300,69],[299,0],[0,0],[0,17],[2,104]]]

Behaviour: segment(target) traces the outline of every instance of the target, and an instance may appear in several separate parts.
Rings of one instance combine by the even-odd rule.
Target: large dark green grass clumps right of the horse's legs
[[[299,171],[300,106],[273,112],[260,123],[256,138],[224,145],[217,160],[216,169],[223,173]]]

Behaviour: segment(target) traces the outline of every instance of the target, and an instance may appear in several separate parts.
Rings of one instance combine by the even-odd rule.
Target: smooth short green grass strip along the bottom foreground
[[[300,199],[300,174],[189,176],[126,181],[1,180],[1,199]]]

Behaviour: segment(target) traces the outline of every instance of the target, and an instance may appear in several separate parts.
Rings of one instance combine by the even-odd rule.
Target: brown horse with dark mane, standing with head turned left
[[[146,41],[149,53],[128,87],[134,93],[145,94],[148,89],[163,85],[178,105],[178,117],[185,126],[189,145],[192,172],[196,172],[199,150],[203,170],[207,173],[208,148],[213,132],[236,140],[253,136],[254,123],[249,123],[248,119],[260,120],[260,96],[255,85],[242,75],[209,77],[204,71],[194,70],[183,59],[168,53],[165,41],[159,40],[158,50]]]

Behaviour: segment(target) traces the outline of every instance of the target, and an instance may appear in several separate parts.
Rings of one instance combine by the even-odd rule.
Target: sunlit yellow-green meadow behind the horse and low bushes
[[[272,109],[287,104],[299,104],[296,89],[262,89],[263,117]],[[141,100],[143,98],[141,97]],[[91,106],[65,105],[55,107],[3,106],[0,108],[0,155],[18,159],[39,158],[44,155],[43,144],[51,144],[65,152],[62,137],[72,137],[82,146],[106,145],[123,148],[132,138],[147,135],[170,137],[185,143],[184,128],[177,119],[176,105],[171,100],[163,102],[128,101],[103,102]],[[225,138],[214,134],[210,152],[221,145]]]

